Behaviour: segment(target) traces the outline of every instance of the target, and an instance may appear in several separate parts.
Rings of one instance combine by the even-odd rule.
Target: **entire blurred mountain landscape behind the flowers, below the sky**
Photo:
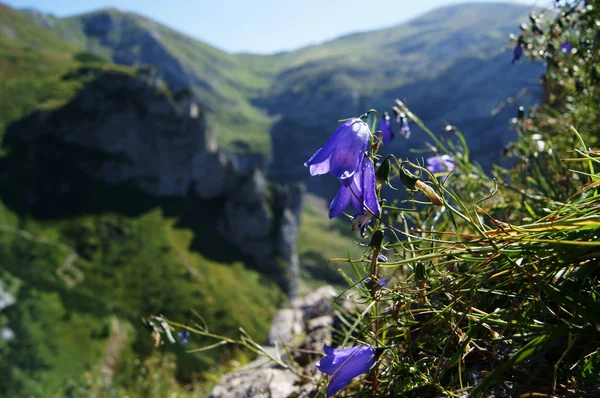
[[[309,283],[339,281],[326,259],[357,248],[302,164],[340,118],[401,97],[433,128],[460,126],[482,164],[499,159],[507,120],[541,95],[542,66],[515,67],[504,48],[527,12],[464,4],[259,56],[115,9],[0,4],[0,296],[16,298],[0,314],[14,333],[0,340],[0,396],[167,395],[138,373],[169,392],[176,377],[213,380],[218,354],[169,346],[157,362],[140,317],[260,340],[298,261]],[[399,156],[425,147],[413,130]]]

